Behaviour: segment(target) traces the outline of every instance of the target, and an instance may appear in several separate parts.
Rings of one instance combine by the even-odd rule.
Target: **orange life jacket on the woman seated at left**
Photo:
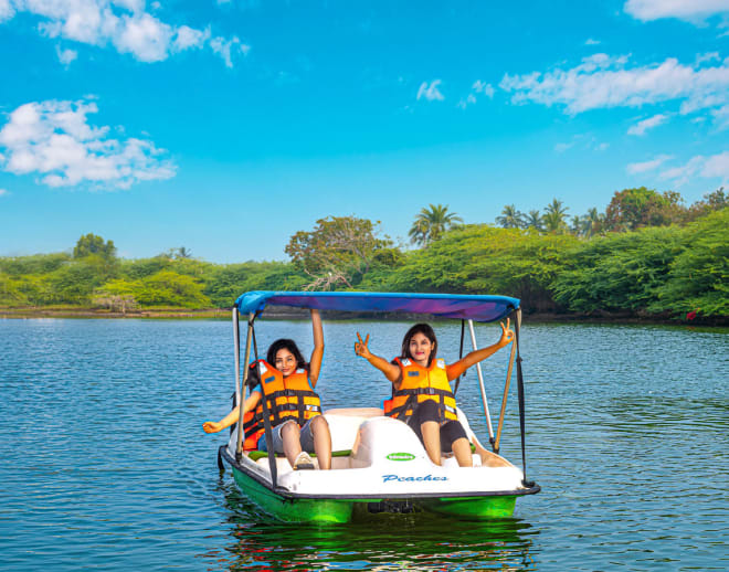
[[[284,378],[284,374],[264,360],[257,364],[261,378],[261,402],[255,410],[243,415],[243,431],[245,443],[243,448],[252,451],[258,448],[258,438],[264,434],[263,400],[266,400],[271,426],[281,425],[289,419],[304,425],[308,420],[321,414],[321,402],[309,384],[309,377],[305,369],[297,369]]]

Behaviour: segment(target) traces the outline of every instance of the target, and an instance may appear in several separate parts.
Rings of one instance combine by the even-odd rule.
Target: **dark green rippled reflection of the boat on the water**
[[[342,526],[281,523],[230,481],[231,542],[208,570],[536,570],[532,539],[517,518],[463,521],[427,512],[362,513]]]

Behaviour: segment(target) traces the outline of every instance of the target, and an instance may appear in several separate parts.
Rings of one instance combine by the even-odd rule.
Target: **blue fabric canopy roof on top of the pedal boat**
[[[504,319],[519,307],[507,296],[461,294],[394,294],[383,292],[247,292],[235,300],[243,314],[262,311],[266,305],[339,311],[431,314],[474,321]]]

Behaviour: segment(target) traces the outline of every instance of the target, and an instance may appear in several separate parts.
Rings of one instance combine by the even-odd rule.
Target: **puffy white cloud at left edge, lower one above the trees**
[[[95,103],[84,100],[21,105],[0,130],[0,167],[14,174],[39,173],[49,187],[128,189],[175,176],[166,151],[151,141],[107,138],[109,127],[88,125],[86,116],[97,110]]]

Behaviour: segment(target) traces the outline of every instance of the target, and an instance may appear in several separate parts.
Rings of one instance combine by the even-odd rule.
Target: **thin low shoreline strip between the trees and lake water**
[[[36,319],[36,318],[94,318],[94,319],[231,319],[232,308],[160,308],[133,310],[127,313],[112,311],[97,308],[0,308],[0,319]],[[288,308],[282,306],[270,306],[266,308],[262,319],[287,320],[287,319],[307,319],[308,310],[298,308]],[[345,311],[324,311],[325,319],[330,320],[402,320],[413,321],[422,320],[422,315],[387,314],[387,313],[345,313]],[[429,320],[437,320],[437,317],[427,317]],[[450,319],[450,318],[448,318]],[[664,325],[664,326],[729,326],[729,316],[712,318],[697,317],[694,320],[672,319],[659,316],[636,316],[631,313],[600,313],[595,315],[585,314],[526,314],[526,322],[579,322],[579,324],[625,324],[625,325]]]

